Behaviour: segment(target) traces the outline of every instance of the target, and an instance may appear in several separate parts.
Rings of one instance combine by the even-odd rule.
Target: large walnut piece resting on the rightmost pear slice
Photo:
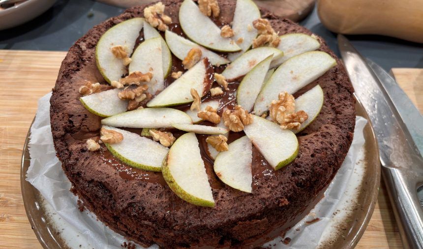
[[[278,99],[272,101],[269,115],[273,122],[280,124],[280,128],[291,130],[299,130],[308,118],[305,111],[295,112],[294,96],[287,92],[280,92]]]

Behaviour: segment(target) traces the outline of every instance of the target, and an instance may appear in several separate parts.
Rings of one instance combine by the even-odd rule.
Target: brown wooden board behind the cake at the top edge
[[[98,0],[121,8],[129,8],[143,4],[150,4],[157,0]],[[271,10],[279,17],[300,22],[313,9],[315,0],[254,0],[260,7]]]

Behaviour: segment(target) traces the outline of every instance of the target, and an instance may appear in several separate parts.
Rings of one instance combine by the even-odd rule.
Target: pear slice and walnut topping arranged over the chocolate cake
[[[214,205],[205,164],[215,179],[251,193],[254,165],[272,171],[297,157],[295,133],[319,115],[324,94],[319,85],[292,94],[336,65],[314,51],[317,37],[279,36],[250,0],[237,1],[231,26],[216,21],[219,10],[217,1],[185,0],[174,23],[161,2],[144,8],[144,18],[109,28],[96,44],[111,86],[80,88],[81,103],[106,117],[100,141],[115,158],[163,171],[178,196],[204,206]],[[87,148],[98,142],[88,139]]]

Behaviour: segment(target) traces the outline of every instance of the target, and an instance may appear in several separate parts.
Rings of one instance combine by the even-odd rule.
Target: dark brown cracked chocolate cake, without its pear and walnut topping
[[[165,13],[173,20],[170,29],[181,32],[177,30],[181,0],[162,2],[166,6]],[[216,22],[230,24],[235,0],[218,2],[221,13]],[[274,171],[253,148],[251,194],[233,189],[217,178],[212,169],[213,161],[205,153],[206,136],[197,135],[215,206],[196,206],[174,194],[161,172],[127,166],[104,144],[98,151],[87,150],[88,138],[98,140],[102,118],[84,108],[79,101],[78,89],[85,81],[108,87],[96,67],[95,46],[109,28],[123,20],[142,17],[144,7],[127,9],[120,16],[92,28],[70,48],[62,62],[50,100],[50,116],[54,144],[63,170],[86,208],[111,229],[142,246],[260,247],[283,234],[314,207],[344,161],[355,125],[353,88],[345,69],[327,44],[318,38],[319,50],[336,58],[338,63],[294,96],[320,84],[325,97],[323,108],[318,117],[297,134],[299,154],[289,165]],[[267,10],[262,9],[261,14],[280,35],[311,35],[309,30]],[[180,70],[181,60],[173,57],[172,72]],[[166,84],[173,81],[168,77]],[[229,103],[229,108],[235,105],[233,92],[238,84],[230,83],[230,90],[222,97]],[[206,98],[211,98],[210,93]],[[228,143],[243,135],[233,134]]]

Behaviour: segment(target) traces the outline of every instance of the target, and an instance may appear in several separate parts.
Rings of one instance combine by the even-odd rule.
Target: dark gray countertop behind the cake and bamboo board
[[[90,28],[123,9],[91,0],[58,0],[34,20],[0,31],[0,49],[67,51]],[[336,34],[319,21],[316,9],[300,23],[322,36],[339,55]],[[423,45],[376,35],[349,35],[364,55],[389,71],[392,67],[423,68]]]

